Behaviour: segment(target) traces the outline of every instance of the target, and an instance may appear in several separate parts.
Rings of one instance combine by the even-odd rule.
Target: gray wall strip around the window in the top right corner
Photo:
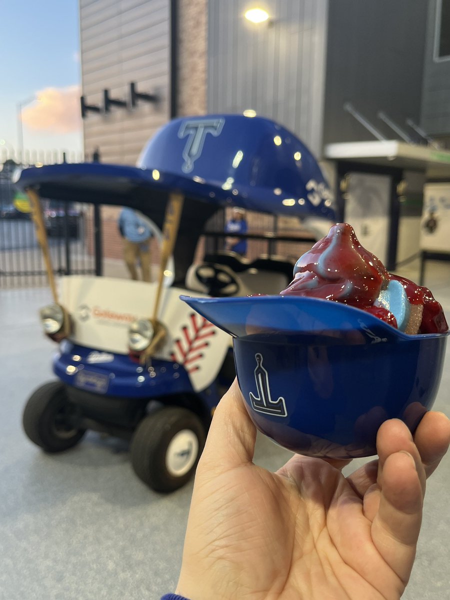
[[[428,8],[421,127],[434,135],[450,134],[450,60],[435,61],[436,0]]]

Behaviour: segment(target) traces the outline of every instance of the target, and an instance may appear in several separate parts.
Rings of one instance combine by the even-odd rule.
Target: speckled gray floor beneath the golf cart
[[[416,265],[402,274],[417,278]],[[425,284],[450,316],[450,266],[430,263]],[[37,317],[48,301],[46,289],[0,290],[0,600],[159,598],[175,589],[192,484],[152,492],[119,440],[90,433],[65,454],[45,455],[25,437],[26,398],[53,379],[55,346]],[[450,346],[435,404],[447,414],[449,360]],[[277,469],[289,456],[259,438],[258,464]],[[449,493],[450,456],[428,484],[406,600],[450,598]]]

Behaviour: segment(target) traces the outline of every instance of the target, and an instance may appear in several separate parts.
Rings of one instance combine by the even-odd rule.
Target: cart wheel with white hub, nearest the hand
[[[134,472],[155,491],[189,481],[205,445],[205,428],[191,410],[170,406],[147,415],[131,440]]]

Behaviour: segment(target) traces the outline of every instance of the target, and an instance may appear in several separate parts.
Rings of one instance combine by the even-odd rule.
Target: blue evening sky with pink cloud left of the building
[[[0,0],[0,149],[83,148],[78,0]]]

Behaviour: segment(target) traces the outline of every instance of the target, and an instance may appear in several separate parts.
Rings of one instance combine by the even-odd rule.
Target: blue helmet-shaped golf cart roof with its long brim
[[[130,206],[160,229],[170,192],[184,194],[176,282],[193,261],[206,221],[225,206],[335,220],[331,191],[308,148],[281,125],[244,115],[170,121],[145,146],[136,167],[32,167],[20,173],[17,185],[34,188],[42,198]]]

